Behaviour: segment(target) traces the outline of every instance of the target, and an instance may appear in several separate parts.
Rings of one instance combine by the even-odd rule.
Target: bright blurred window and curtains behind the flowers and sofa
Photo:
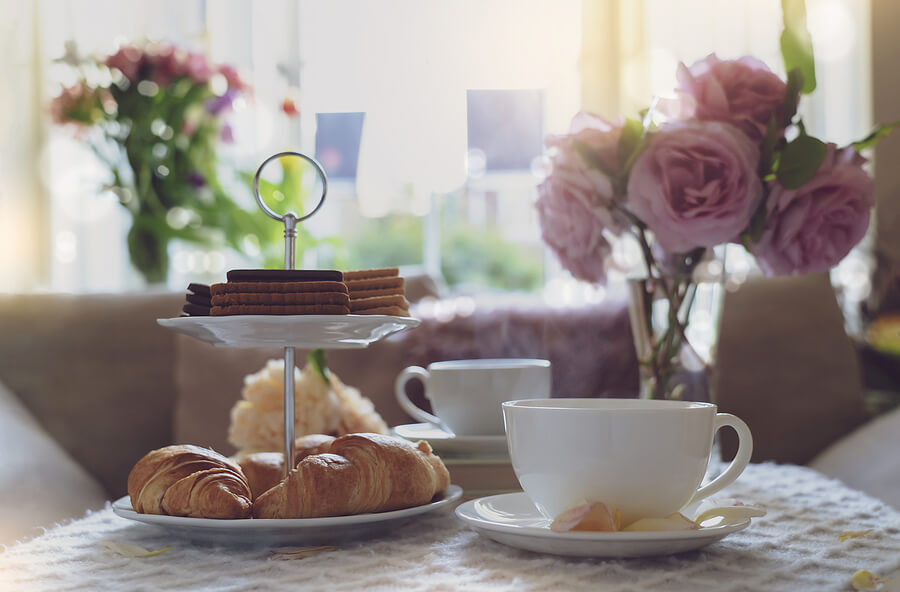
[[[819,78],[802,104],[811,133],[841,144],[864,136],[875,120],[896,119],[896,112],[874,111],[898,98],[895,77],[877,72],[893,55],[890,40],[878,36],[879,22],[898,16],[897,7],[807,4]],[[330,181],[327,206],[303,226],[303,265],[400,264],[427,272],[450,294],[597,302],[622,289],[621,277],[613,274],[606,287],[579,284],[540,239],[532,204],[544,138],[565,132],[580,108],[610,119],[633,116],[650,97],[671,93],[679,62],[711,50],[723,58],[752,54],[783,74],[779,0],[0,6],[0,291],[7,292],[131,291],[148,281],[180,290],[231,267],[277,266],[280,231],[256,208],[248,175],[269,154],[293,149],[320,160]],[[115,149],[124,143],[109,150],[110,137],[125,133],[127,114],[87,114],[87,121],[102,120],[89,126],[59,113],[66,98],[69,107],[77,101],[71,95],[79,85],[115,82],[103,62],[122,57],[123,47],[174,48],[207,60],[211,73],[226,67],[239,76],[237,87],[213,88],[225,99],[215,107],[217,133],[191,156],[206,174],[169,174],[170,186],[188,197],[169,207],[167,227],[157,229],[168,264],[149,279],[125,248],[143,215],[133,200],[146,197],[140,179],[115,176],[122,158]],[[68,97],[60,97],[64,89]],[[166,88],[143,96],[159,102],[164,94],[179,100]],[[127,158],[159,180],[172,168],[164,163],[179,136],[192,130],[173,130],[162,118],[145,123],[153,135],[132,134]],[[879,155],[898,150],[893,140]],[[877,262],[890,276],[897,256],[898,247],[887,244],[897,206],[884,203],[894,174],[878,168],[880,225],[832,273],[851,313],[872,297]],[[296,180],[289,171],[283,176]],[[308,205],[277,185],[269,197],[285,206],[295,200],[295,209]],[[218,217],[197,205],[203,200]],[[727,261],[739,283],[755,268],[741,248],[733,251]]]

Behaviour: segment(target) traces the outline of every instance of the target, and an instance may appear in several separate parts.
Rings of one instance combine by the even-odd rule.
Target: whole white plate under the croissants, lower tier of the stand
[[[391,512],[332,518],[215,520],[139,514],[131,508],[131,499],[127,495],[113,502],[112,508],[113,512],[122,518],[161,526],[173,533],[201,542],[318,545],[383,534],[402,525],[410,518],[447,507],[461,496],[462,488],[458,485],[451,485],[441,499],[422,506]]]

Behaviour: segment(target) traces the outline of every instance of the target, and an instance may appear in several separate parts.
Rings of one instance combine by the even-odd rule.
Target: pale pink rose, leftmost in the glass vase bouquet
[[[604,231],[621,232],[622,222],[610,208],[615,200],[612,180],[588,166],[575,149],[578,140],[591,147],[604,168],[620,170],[616,147],[621,126],[579,113],[569,135],[554,136],[551,172],[538,187],[536,203],[541,234],[563,267],[580,280],[602,282],[611,253]]]

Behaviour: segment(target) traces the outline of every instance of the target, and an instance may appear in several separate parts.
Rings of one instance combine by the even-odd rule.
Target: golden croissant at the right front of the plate
[[[336,438],[306,457],[253,504],[256,518],[319,518],[384,512],[429,502],[450,474],[427,442],[381,434]]]

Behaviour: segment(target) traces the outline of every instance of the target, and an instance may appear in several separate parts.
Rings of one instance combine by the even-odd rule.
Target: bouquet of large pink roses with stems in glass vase
[[[811,58],[788,71],[782,80],[754,58],[710,55],[680,65],[676,98],[640,119],[579,113],[568,134],[547,141],[550,171],[536,205],[562,266],[603,282],[610,241],[631,236],[644,267],[632,296],[639,292],[639,307],[667,304],[661,331],[641,339],[633,327],[642,396],[683,394],[678,378],[699,359],[685,333],[694,272],[713,247],[741,244],[767,274],[821,272],[866,232],[873,182],[860,150],[890,126],[849,146],[809,135],[797,106],[815,86]],[[632,324],[649,316],[632,310]]]

